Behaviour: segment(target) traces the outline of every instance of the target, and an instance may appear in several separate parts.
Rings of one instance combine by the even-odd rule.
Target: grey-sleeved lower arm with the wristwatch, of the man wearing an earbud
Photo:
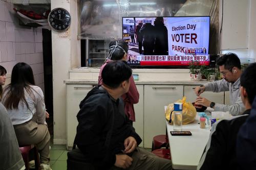
[[[245,111],[245,106],[242,102],[241,96],[237,99],[237,102],[233,105],[224,105],[216,103],[214,107],[214,111],[229,111],[229,113],[233,116],[240,115]]]

